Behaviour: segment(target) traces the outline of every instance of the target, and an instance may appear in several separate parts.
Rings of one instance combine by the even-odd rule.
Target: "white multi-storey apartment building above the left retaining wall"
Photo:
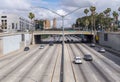
[[[4,31],[24,31],[33,29],[31,21],[17,14],[0,14],[0,29]]]

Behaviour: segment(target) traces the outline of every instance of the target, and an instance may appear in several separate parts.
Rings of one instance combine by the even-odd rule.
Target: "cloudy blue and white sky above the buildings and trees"
[[[64,18],[64,27],[70,27],[78,17],[85,16],[84,9],[92,5],[96,6],[98,13],[106,8],[120,13],[120,0],[0,0],[0,13],[19,14],[28,19],[29,12],[33,12],[35,19],[49,19],[52,22],[53,18],[57,18],[58,27],[61,27],[59,15],[70,13]],[[71,13],[75,9],[78,10]]]

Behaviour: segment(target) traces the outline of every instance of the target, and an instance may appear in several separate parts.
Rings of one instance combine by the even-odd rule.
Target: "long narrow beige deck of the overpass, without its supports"
[[[33,35],[62,35],[63,31],[34,31]],[[72,35],[72,34],[84,34],[84,35],[93,35],[94,33],[91,31],[74,31],[74,30],[70,30],[70,31],[64,31],[65,35]]]

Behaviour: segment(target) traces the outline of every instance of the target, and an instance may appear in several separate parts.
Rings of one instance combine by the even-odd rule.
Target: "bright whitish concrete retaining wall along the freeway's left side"
[[[0,37],[0,55],[6,55],[29,46],[31,34],[18,34]]]

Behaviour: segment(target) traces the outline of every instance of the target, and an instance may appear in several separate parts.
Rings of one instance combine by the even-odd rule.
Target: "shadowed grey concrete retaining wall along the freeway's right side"
[[[100,45],[120,51],[120,33],[98,33]],[[107,36],[106,36],[107,35]]]

